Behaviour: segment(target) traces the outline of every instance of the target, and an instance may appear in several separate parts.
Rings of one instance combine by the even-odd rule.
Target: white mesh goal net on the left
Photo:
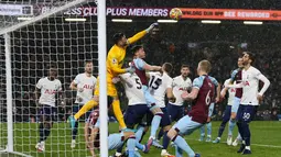
[[[94,0],[0,2],[0,156],[11,155],[3,152],[46,157],[90,155],[84,139],[84,121],[79,123],[76,147],[71,148],[72,131],[67,116],[72,114],[76,96],[69,85],[76,75],[84,72],[85,60],[93,60],[94,76],[98,75],[97,49]],[[11,65],[7,63],[7,51]],[[35,145],[40,138],[40,106],[36,105],[34,90],[39,79],[47,76],[51,65],[57,68],[65,103],[56,102],[57,113],[45,141],[45,152],[39,153]],[[9,66],[11,89],[7,77]],[[8,90],[11,96],[7,96]],[[11,112],[7,112],[10,109]],[[9,116],[12,117],[12,131],[9,130]]]

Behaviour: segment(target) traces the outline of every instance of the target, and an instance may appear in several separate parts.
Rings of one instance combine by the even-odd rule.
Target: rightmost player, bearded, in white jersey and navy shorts
[[[250,150],[250,128],[249,123],[256,114],[256,108],[262,101],[263,93],[270,86],[270,81],[257,68],[252,67],[255,56],[250,52],[244,53],[242,69],[242,98],[237,113],[237,126],[242,137],[242,144],[237,153],[242,155],[251,154]],[[259,90],[259,80],[263,82],[263,87]]]

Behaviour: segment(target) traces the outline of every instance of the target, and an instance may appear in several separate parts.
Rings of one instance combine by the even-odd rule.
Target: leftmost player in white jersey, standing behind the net
[[[62,94],[62,83],[57,77],[57,70],[55,68],[50,68],[48,76],[41,78],[37,81],[35,88],[35,98],[37,102],[39,91],[41,93],[39,99],[39,105],[41,106],[40,110],[40,124],[39,124],[39,133],[40,133],[40,141],[36,144],[35,148],[39,152],[45,150],[45,141],[51,133],[51,128],[53,126],[53,121],[56,119],[57,114],[57,106],[56,106],[56,94],[60,94],[60,99],[62,104],[63,94]]]

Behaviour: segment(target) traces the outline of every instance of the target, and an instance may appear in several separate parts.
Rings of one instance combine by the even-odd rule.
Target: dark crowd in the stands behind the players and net
[[[195,24],[194,24],[195,25]],[[117,27],[117,24],[112,23],[112,27]],[[108,26],[108,34],[114,34],[116,30]],[[128,35],[130,32],[134,32],[134,26],[132,24],[131,30],[127,30]],[[221,83],[225,79],[229,78],[230,71],[236,68],[237,52],[244,49],[250,49],[257,55],[256,67],[259,68],[272,82],[269,91],[266,93],[266,99],[260,105],[260,111],[257,114],[257,120],[277,120],[275,114],[281,112],[281,99],[278,93],[280,93],[281,76],[280,71],[281,65],[281,47],[279,47],[270,35],[273,34],[270,26],[264,27],[229,27],[219,26],[216,31],[209,34],[204,34],[202,32],[207,32],[212,30],[212,26],[207,27],[205,25],[198,24],[198,27],[190,26],[193,30],[191,33],[185,27],[175,29],[174,25],[161,25],[154,33],[142,41],[141,44],[144,45],[145,52],[148,54],[147,61],[155,65],[160,65],[164,61],[170,61],[174,65],[174,70],[172,76],[180,74],[180,67],[182,64],[187,64],[191,66],[191,78],[195,76],[196,64],[207,58],[213,64],[212,75],[215,76]],[[137,27],[138,29],[138,27]],[[137,30],[136,29],[136,30]],[[214,29],[214,27],[213,27]],[[234,33],[234,31],[241,31],[240,33]],[[169,30],[176,30],[173,33]],[[263,36],[255,35],[255,31],[267,31]],[[233,35],[228,35],[231,32]],[[248,37],[246,34],[255,35],[255,37]],[[179,35],[180,34],[180,35]],[[19,35],[14,33],[14,35]],[[25,34],[26,35],[26,34]],[[71,34],[72,36],[73,34]],[[278,32],[274,34],[278,37]],[[35,46],[37,43],[32,43],[30,38],[14,40],[14,47],[12,51],[12,68],[13,68],[13,112],[15,113],[15,121],[34,121],[36,114],[36,105],[34,101],[34,88],[35,82],[46,75],[46,67],[50,65],[51,60],[57,61],[58,67],[58,79],[63,83],[63,88],[66,94],[66,104],[62,106],[58,120],[65,121],[67,113],[69,113],[69,106],[74,102],[75,93],[72,92],[68,87],[71,80],[83,70],[84,59],[91,57],[94,58],[95,75],[97,75],[97,60],[96,53],[90,53],[87,46],[82,49],[80,45],[89,41],[84,41],[85,43],[72,43],[71,48],[62,49],[57,45],[63,44],[62,38],[52,38],[54,42],[44,41],[41,36],[43,48]],[[110,37],[108,37],[110,38]],[[190,42],[188,42],[190,41]],[[50,48],[52,44],[57,44],[56,48]],[[111,41],[108,40],[108,45],[111,45]],[[24,47],[24,44],[30,44],[30,48]],[[33,45],[32,45],[33,44]],[[67,43],[66,43],[67,44]],[[55,46],[55,45],[54,45]],[[1,47],[3,48],[3,47]],[[129,47],[130,48],[130,47]],[[82,51],[80,51],[82,49]],[[64,53],[61,53],[64,51]],[[86,52],[83,52],[86,51]],[[128,51],[129,52],[129,51]],[[3,52],[2,52],[3,53]],[[130,57],[130,54],[128,54]],[[1,55],[3,60],[3,55]],[[156,59],[155,59],[156,58]],[[43,64],[42,64],[43,63]],[[4,61],[1,61],[1,72],[4,74]],[[4,105],[6,93],[3,90],[6,85],[4,77],[1,76],[1,106]],[[125,93],[121,92],[122,105],[126,104]],[[224,102],[223,102],[224,103]],[[221,116],[225,104],[216,105],[217,119]],[[2,114],[6,112],[4,108],[0,108]],[[31,119],[32,117],[32,119]]]

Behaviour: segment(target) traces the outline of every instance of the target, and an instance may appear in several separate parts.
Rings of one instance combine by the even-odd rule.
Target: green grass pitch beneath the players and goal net
[[[213,122],[213,136],[214,139],[217,135],[217,130],[220,122]],[[1,125],[0,131],[0,146],[6,144],[4,124]],[[51,136],[46,141],[45,153],[37,153],[34,148],[37,139],[37,125],[34,123],[15,123],[14,124],[14,149],[17,152],[25,153],[36,157],[86,157],[90,154],[85,148],[83,126],[79,124],[79,132],[77,137],[76,148],[71,148],[71,130],[67,123],[55,123],[52,128]],[[251,150],[252,157],[281,157],[281,122],[252,122],[251,128]],[[109,132],[114,133],[118,131],[117,123],[109,125]],[[196,152],[201,153],[202,157],[240,157],[242,155],[237,154],[239,148],[226,145],[227,127],[221,138],[220,144],[212,144],[206,142],[198,142],[199,131],[195,131],[192,135],[185,136],[188,145]],[[237,128],[235,130],[237,135]],[[147,142],[149,135],[145,136],[143,142]],[[169,147],[169,152],[174,154],[174,148]],[[143,157],[160,157],[160,149],[151,148],[149,154],[142,154]],[[110,152],[112,155],[114,152]],[[17,155],[0,154],[0,157],[15,157]],[[185,155],[186,156],[186,155]]]

